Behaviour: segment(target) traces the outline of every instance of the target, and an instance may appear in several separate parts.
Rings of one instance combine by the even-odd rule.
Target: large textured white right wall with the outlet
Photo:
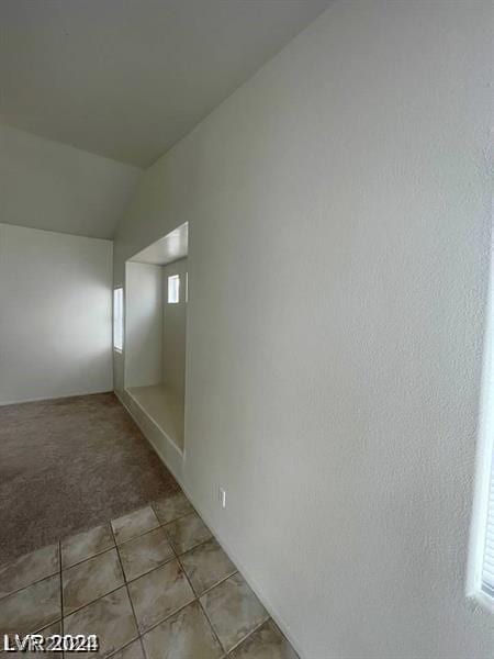
[[[464,595],[491,29],[484,0],[336,2],[116,234],[122,281],[189,222],[183,484],[306,659],[492,655]]]

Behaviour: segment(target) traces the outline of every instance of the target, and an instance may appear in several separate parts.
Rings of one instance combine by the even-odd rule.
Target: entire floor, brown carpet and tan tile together
[[[0,654],[297,657],[113,393],[0,407]]]

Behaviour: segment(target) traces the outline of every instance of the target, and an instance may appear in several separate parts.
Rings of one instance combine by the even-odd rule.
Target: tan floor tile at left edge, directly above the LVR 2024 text
[[[48,577],[0,600],[2,634],[35,633],[60,617],[59,574]]]

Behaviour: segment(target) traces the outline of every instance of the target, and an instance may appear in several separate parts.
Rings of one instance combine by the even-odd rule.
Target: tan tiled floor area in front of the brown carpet
[[[88,658],[296,659],[181,492],[0,567],[0,639],[38,632],[97,634]]]

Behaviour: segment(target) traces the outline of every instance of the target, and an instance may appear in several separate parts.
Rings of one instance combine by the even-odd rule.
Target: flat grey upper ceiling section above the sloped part
[[[146,167],[328,0],[0,0],[0,123]]]

